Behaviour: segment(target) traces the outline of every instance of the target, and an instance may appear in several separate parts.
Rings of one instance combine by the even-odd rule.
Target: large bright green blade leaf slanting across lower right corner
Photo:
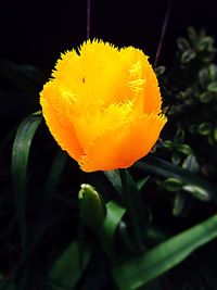
[[[217,215],[114,267],[114,280],[119,290],[139,289],[215,238]]]

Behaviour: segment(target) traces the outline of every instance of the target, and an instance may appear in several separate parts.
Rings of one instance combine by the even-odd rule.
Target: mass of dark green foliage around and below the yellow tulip
[[[216,48],[177,45],[156,67],[167,126],[119,172],[82,173],[42,121],[43,74],[0,61],[1,290],[217,289]]]

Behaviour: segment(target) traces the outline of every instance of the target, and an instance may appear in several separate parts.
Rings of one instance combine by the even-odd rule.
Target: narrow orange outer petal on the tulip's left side
[[[52,83],[43,87],[40,93],[40,104],[46,123],[60,147],[66,150],[73,159],[78,160],[84,150],[65,112],[67,102],[63,99],[63,96],[60,96]]]

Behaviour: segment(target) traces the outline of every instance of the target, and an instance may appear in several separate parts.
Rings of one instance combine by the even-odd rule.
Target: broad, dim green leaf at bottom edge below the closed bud
[[[91,251],[88,247],[72,242],[54,262],[47,276],[47,290],[71,290],[82,276]]]

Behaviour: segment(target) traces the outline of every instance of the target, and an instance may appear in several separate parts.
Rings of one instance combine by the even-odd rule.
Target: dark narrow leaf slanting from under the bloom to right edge
[[[139,161],[135,164],[135,167],[162,177],[174,177],[180,179],[183,185],[194,185],[201,187],[209,194],[213,200],[216,201],[216,196],[214,192],[216,192],[217,189],[215,186],[208,184],[202,177],[199,177],[193,173],[180,168],[169,162],[149,155],[145,157],[145,162]]]

